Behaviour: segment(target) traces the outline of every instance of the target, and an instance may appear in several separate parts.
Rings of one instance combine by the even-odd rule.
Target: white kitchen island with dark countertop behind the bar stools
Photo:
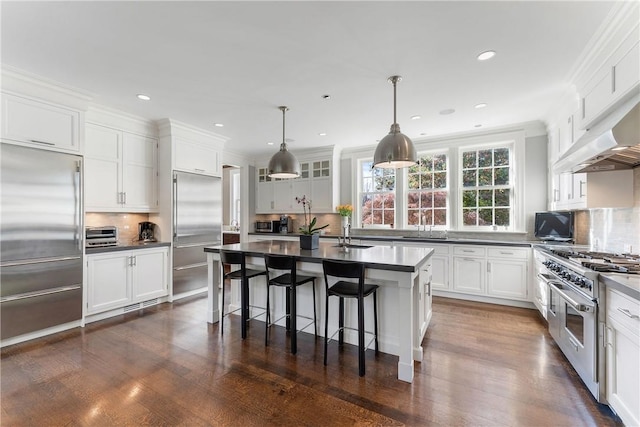
[[[322,272],[322,260],[342,260],[362,262],[366,266],[367,283],[380,285],[378,296],[378,341],[380,351],[399,357],[398,379],[413,381],[413,361],[422,360],[421,342],[431,320],[431,255],[433,249],[420,247],[359,246],[338,247],[334,242],[321,242],[315,250],[300,249],[298,242],[268,240],[260,242],[237,243],[223,246],[206,247],[209,265],[208,322],[215,323],[220,318],[219,287],[222,279],[220,268],[220,250],[243,252],[247,256],[247,267],[264,268],[263,255],[290,255],[297,259],[298,270],[314,275],[318,292],[318,332],[324,328],[325,285]],[[259,283],[262,281],[261,283]],[[265,306],[266,291],[264,278],[251,280],[251,297],[256,305]],[[283,294],[283,293],[282,293]],[[284,312],[284,297],[274,304],[277,311]],[[298,313],[312,310],[311,292],[298,293]],[[279,302],[279,303],[278,303]],[[345,325],[354,326],[357,321],[355,305],[345,304]],[[332,304],[329,315],[329,333],[337,329],[337,305]],[[370,308],[365,308],[366,313]],[[246,314],[245,314],[246,316]],[[367,317],[367,330],[373,330],[372,318]],[[369,324],[371,322],[371,325]],[[347,331],[350,332],[350,331]],[[261,330],[261,333],[262,330]],[[357,344],[355,334],[345,333],[345,341]]]

